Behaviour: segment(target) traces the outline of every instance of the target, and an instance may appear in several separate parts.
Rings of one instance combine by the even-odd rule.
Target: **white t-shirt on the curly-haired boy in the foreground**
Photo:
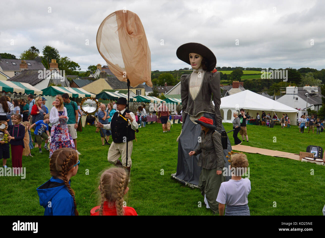
[[[217,196],[217,202],[229,206],[241,206],[248,203],[247,196],[251,191],[249,179],[232,180],[223,182]]]

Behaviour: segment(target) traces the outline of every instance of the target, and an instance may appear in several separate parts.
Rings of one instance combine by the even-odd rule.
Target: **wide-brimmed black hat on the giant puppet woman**
[[[184,61],[185,63],[188,63],[189,65],[191,64],[188,57],[190,53],[202,55],[202,57],[206,60],[207,70],[214,70],[214,67],[217,64],[217,59],[208,47],[200,43],[191,42],[181,45],[176,51],[177,58]]]

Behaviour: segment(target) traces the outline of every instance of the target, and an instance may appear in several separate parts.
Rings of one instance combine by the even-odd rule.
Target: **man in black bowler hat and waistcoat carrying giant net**
[[[110,124],[103,125],[98,122],[97,127],[102,127],[112,132],[113,142],[108,151],[108,161],[116,166],[123,166],[130,173],[132,166],[131,154],[133,140],[135,139],[135,130],[138,129],[138,124],[135,115],[125,108],[126,98],[119,98],[116,101],[116,107],[117,112],[113,114]],[[128,143],[127,164],[126,141]],[[122,163],[119,160],[120,156],[122,157]]]

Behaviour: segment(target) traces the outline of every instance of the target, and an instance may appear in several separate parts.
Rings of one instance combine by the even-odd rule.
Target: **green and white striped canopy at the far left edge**
[[[19,83],[14,81],[0,80],[0,91],[10,93],[22,93],[22,94],[43,94],[42,90],[36,89],[29,83]]]

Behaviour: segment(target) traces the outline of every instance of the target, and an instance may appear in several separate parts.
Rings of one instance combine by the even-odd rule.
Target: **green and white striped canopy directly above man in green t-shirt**
[[[43,89],[43,95],[45,96],[53,96],[55,97],[58,94],[68,93],[69,97],[72,98],[86,98],[86,97],[96,97],[96,94],[87,92],[82,88],[68,88],[68,87],[58,87],[58,86],[50,86],[46,89]]]

